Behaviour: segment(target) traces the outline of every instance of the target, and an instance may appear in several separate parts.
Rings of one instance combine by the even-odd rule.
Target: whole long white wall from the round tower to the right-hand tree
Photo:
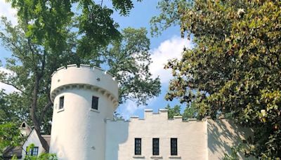
[[[106,126],[106,160],[129,159],[223,159],[231,147],[251,135],[227,119],[182,121],[181,116],[168,119],[167,112],[145,110],[145,119],[110,121]],[[142,139],[142,155],[134,155],[135,138]],[[152,138],[159,138],[159,156],[152,156]],[[178,156],[171,156],[170,138],[178,138]],[[245,159],[240,153],[240,159]],[[252,159],[252,157],[251,157]]]

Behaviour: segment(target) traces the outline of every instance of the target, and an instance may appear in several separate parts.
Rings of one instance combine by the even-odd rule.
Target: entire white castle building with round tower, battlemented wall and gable
[[[58,159],[223,159],[250,133],[228,119],[168,119],[166,109],[145,109],[143,119],[115,120],[118,82],[98,67],[60,67],[51,81],[53,121],[51,137],[44,138]],[[22,150],[22,158],[44,152],[35,131],[22,148],[30,143],[36,147]]]

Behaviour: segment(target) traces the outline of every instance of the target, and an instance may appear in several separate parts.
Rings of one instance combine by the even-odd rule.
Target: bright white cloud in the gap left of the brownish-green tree
[[[159,76],[162,85],[167,84],[172,79],[171,69],[164,69],[164,65],[168,60],[174,58],[180,59],[183,47],[192,48],[192,41],[174,36],[171,39],[163,41],[158,48],[152,49],[150,71],[152,76]]]

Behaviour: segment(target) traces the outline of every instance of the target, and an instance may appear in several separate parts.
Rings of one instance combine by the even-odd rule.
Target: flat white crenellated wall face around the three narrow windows
[[[134,156],[135,138],[142,139],[141,157]],[[159,138],[159,156],[152,156],[152,138]],[[178,138],[178,156],[171,156],[171,138]],[[164,109],[146,110],[145,119],[107,121],[106,140],[106,160],[207,158],[206,121],[170,120]]]

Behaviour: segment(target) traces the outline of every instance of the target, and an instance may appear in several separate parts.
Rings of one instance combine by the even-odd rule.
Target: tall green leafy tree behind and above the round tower
[[[159,94],[159,79],[152,79],[148,69],[150,41],[145,29],[119,32],[110,17],[112,8],[103,1],[9,2],[18,10],[18,25],[1,18],[0,39],[12,53],[5,67],[13,75],[1,72],[0,81],[20,91],[20,107],[30,109],[22,115],[32,119],[47,152],[48,144],[40,133],[51,131],[51,74],[58,67],[73,63],[109,67],[119,77],[120,102],[134,99],[145,104]],[[133,8],[130,0],[114,0],[112,4],[121,15],[128,15]]]

